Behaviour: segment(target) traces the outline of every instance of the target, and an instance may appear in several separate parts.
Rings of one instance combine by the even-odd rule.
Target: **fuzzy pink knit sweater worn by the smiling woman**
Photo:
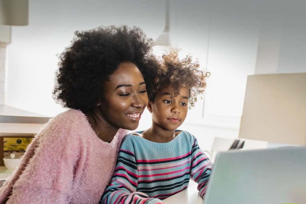
[[[121,140],[95,134],[85,115],[68,110],[51,119],[0,189],[0,203],[98,203],[113,174]]]

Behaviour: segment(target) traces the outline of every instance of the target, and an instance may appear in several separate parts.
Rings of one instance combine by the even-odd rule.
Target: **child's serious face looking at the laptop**
[[[188,111],[188,88],[181,88],[180,94],[171,97],[169,87],[158,93],[154,102],[149,102],[148,109],[152,111],[153,124],[165,130],[177,129],[185,120]]]

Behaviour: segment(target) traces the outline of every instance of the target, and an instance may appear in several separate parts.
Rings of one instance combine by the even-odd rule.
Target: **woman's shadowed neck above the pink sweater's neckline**
[[[104,142],[110,143],[119,128],[110,125],[101,115],[98,109],[94,109],[85,114],[91,128],[95,131],[96,135]]]

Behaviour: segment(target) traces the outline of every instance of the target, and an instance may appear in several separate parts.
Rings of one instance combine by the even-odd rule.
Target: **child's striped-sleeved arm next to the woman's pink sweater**
[[[102,203],[162,203],[157,198],[149,198],[147,194],[136,191],[138,171],[134,152],[127,142],[122,143],[114,175],[101,197]]]

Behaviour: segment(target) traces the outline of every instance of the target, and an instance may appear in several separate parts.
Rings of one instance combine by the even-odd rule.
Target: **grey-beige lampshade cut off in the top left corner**
[[[28,25],[28,0],[0,0],[0,25]]]

